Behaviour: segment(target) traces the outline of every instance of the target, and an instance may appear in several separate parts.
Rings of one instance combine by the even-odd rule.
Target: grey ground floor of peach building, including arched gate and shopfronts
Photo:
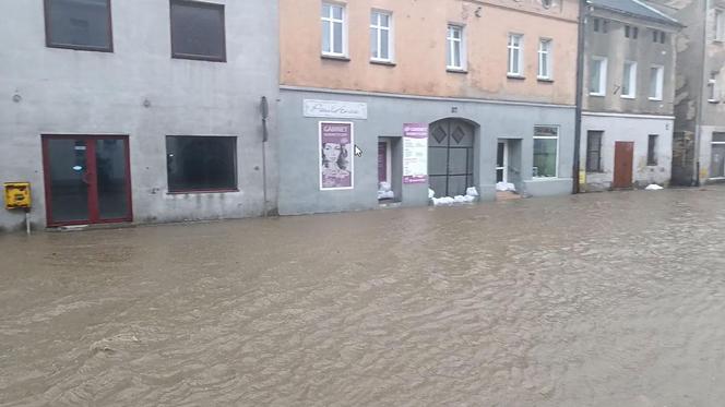
[[[497,184],[571,193],[572,106],[283,87],[278,111],[282,215],[423,206],[429,189],[454,197],[475,187],[484,201]],[[423,182],[408,179],[409,156],[423,155],[408,144],[411,123],[428,131]],[[335,129],[341,143],[330,143]],[[379,200],[381,184],[389,199]]]

